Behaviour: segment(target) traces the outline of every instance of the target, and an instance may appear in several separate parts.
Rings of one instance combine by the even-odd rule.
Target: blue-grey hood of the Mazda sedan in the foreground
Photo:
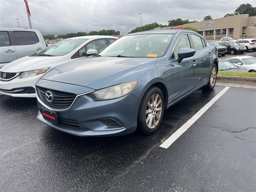
[[[101,89],[140,78],[139,70],[154,66],[158,58],[81,58],[56,66],[42,79]]]

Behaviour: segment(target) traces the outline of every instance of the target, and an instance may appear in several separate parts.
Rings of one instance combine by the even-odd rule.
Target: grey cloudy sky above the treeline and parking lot
[[[204,16],[223,17],[242,3],[256,6],[255,0],[28,0],[32,27],[42,34],[66,34],[101,29],[119,30],[125,34],[142,25],[182,18],[203,20]],[[24,0],[0,0],[0,27],[28,28]]]

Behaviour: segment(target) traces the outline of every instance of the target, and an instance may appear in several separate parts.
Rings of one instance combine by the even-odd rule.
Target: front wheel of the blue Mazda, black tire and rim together
[[[145,135],[154,133],[164,115],[164,96],[158,87],[149,88],[144,94],[138,112],[138,129]]]

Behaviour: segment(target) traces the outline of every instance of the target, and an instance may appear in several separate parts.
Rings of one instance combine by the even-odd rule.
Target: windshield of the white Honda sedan
[[[66,39],[44,48],[34,56],[63,56],[69,54],[88,39]]]

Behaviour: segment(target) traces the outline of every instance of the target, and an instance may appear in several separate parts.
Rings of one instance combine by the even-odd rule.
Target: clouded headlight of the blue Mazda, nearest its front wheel
[[[126,83],[121,83],[119,85],[107,87],[104,89],[97,90],[89,96],[94,100],[109,100],[116,99],[130,93],[137,85],[138,81],[129,81]]]

